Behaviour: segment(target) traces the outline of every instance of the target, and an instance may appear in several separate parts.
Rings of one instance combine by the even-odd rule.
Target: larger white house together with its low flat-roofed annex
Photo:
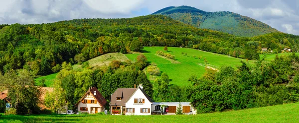
[[[184,114],[196,114],[196,111],[190,105],[190,102],[181,102],[182,112]],[[137,88],[118,88],[111,95],[110,112],[111,115],[151,115],[152,113],[174,114],[179,107],[178,102],[153,102],[143,86]]]

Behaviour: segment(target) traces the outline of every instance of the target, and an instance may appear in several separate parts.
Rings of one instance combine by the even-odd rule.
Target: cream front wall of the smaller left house
[[[87,96],[83,100],[95,100],[95,98]],[[81,111],[80,110],[81,107],[87,107],[88,109],[87,109],[87,111]],[[78,112],[82,112],[82,113],[84,113],[84,112],[94,113],[94,112],[91,112],[91,110],[92,110],[91,107],[97,107],[98,108],[98,113],[104,111],[103,107],[101,107],[101,105],[99,104],[98,101],[97,101],[96,104],[82,103],[80,101],[80,103],[78,104]]]

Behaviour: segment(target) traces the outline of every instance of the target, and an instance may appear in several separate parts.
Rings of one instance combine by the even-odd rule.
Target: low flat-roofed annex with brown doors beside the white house
[[[181,105],[182,112],[184,114],[196,114],[195,109],[191,106],[190,102],[160,102],[160,103],[152,103],[151,109],[152,112],[158,112],[163,111],[163,114],[174,114],[176,113],[179,104]],[[164,109],[161,110],[161,107],[163,106]]]

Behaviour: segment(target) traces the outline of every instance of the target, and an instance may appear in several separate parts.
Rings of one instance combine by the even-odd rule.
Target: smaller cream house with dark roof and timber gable
[[[88,89],[88,91],[82,96],[75,106],[78,108],[78,112],[87,112],[89,114],[95,114],[103,112],[107,101],[96,87]]]

